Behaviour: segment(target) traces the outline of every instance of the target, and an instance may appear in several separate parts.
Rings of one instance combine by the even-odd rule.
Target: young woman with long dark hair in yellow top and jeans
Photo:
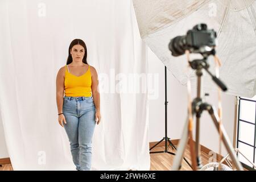
[[[68,135],[73,162],[80,171],[91,168],[93,131],[101,120],[98,75],[86,57],[84,41],[73,40],[67,65],[56,77],[58,120]]]

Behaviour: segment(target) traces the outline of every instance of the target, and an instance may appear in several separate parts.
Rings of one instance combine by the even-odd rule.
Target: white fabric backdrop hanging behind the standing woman
[[[141,84],[130,73],[147,73],[131,1],[2,0],[0,22],[0,117],[14,170],[75,169],[55,86],[75,38],[100,79],[92,169],[150,169],[147,89],[125,89]]]

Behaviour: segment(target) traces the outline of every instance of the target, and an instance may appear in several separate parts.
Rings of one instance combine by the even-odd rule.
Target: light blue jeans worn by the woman
[[[93,97],[64,97],[65,131],[77,170],[89,171],[92,163],[92,137],[96,125]]]

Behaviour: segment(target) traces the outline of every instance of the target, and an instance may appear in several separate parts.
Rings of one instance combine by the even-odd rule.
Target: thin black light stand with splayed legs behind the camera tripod
[[[162,140],[160,140],[158,143],[156,143],[153,147],[150,148],[150,151],[158,146],[159,143],[163,142],[164,140],[164,151],[155,151],[155,152],[150,152],[150,154],[156,154],[156,153],[168,153],[168,154],[171,154],[171,155],[175,155],[173,152],[170,152],[168,151],[168,148],[171,146],[172,149],[175,149],[177,150],[177,148],[174,146],[174,144],[171,142],[170,138],[167,137],[167,69],[166,69],[166,66],[164,67],[164,85],[165,85],[165,102],[164,102],[164,105],[165,105],[165,126],[164,126],[164,129],[165,129],[165,135],[164,135],[164,138]],[[169,143],[169,144],[168,144]],[[190,166],[191,164],[189,164],[188,160],[183,158],[185,160],[185,162]]]

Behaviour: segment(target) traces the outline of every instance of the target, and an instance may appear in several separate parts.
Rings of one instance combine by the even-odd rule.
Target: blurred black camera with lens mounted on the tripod
[[[176,36],[169,43],[172,56],[180,56],[188,50],[191,53],[210,52],[217,44],[217,34],[214,30],[207,30],[207,24],[197,24],[187,35]]]

